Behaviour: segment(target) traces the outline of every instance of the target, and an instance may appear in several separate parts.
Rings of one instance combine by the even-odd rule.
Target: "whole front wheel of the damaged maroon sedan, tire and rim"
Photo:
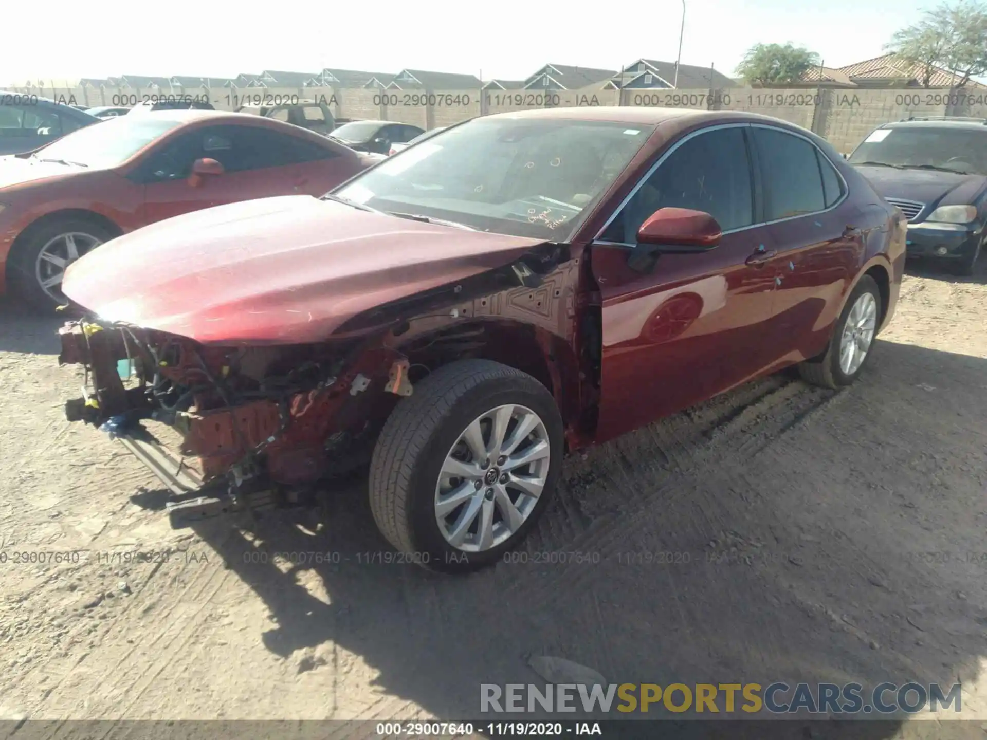
[[[562,453],[562,418],[545,386],[491,360],[455,362],[418,383],[385,423],[370,464],[370,508],[413,561],[476,570],[524,539]]]

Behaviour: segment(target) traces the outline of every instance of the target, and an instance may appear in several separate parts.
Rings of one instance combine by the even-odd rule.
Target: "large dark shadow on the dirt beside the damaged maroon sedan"
[[[379,671],[378,717],[412,702],[442,719],[536,718],[480,712],[482,683],[544,684],[533,655],[618,684],[916,681],[945,693],[975,680],[987,653],[987,453],[977,441],[987,393],[969,392],[985,378],[983,359],[879,341],[839,394],[786,375],[749,384],[571,456],[522,550],[468,576],[399,562],[360,479],[332,491],[319,532],[304,511],[268,515],[261,541],[223,520],[195,530],[266,604],[268,650],[307,671],[332,664],[339,647]],[[308,562],[285,572],[274,553]],[[793,721],[768,731],[671,721],[689,715],[660,707],[632,716],[667,721],[645,732],[628,720],[608,736],[902,729]],[[937,726],[938,738],[981,732]]]

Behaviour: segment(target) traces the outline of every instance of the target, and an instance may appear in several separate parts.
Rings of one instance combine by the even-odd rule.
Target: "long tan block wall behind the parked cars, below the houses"
[[[299,100],[326,102],[339,117],[382,118],[422,128],[447,126],[476,115],[542,108],[646,106],[705,111],[751,111],[772,115],[815,131],[842,152],[850,152],[876,126],[921,115],[987,117],[987,90],[363,90],[333,88],[219,88],[132,90],[22,88],[68,105],[132,106],[145,100],[191,96],[221,111],[242,105],[278,105]]]

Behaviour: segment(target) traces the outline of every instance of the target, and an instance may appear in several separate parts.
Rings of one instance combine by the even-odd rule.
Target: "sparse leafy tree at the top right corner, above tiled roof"
[[[940,5],[922,20],[896,32],[884,48],[915,68],[930,87],[937,68],[959,78],[956,87],[987,73],[987,6],[977,0]]]

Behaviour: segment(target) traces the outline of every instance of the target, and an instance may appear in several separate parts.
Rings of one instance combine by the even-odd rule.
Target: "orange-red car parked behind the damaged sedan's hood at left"
[[[124,115],[0,157],[0,294],[54,307],[65,268],[114,237],[238,200],[322,195],[378,159],[272,118],[218,111]]]

